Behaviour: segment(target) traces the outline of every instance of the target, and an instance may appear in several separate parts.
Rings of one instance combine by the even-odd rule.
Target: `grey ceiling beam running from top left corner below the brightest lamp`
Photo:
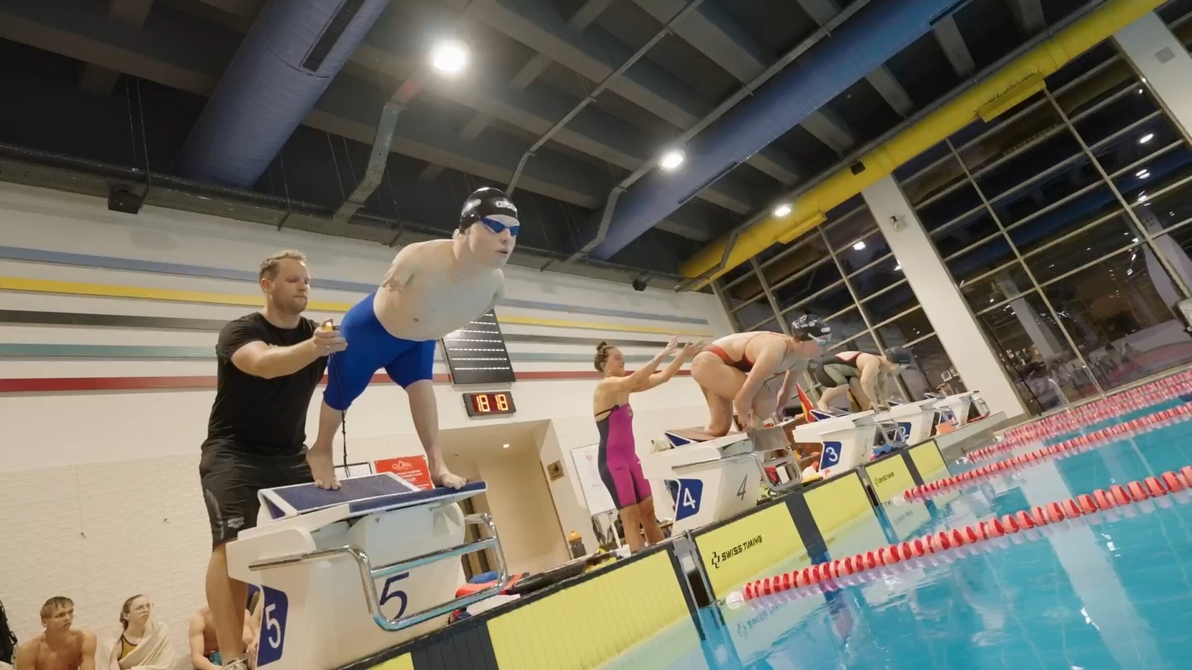
[[[69,10],[62,11],[62,4],[69,4]],[[147,39],[145,31],[111,19],[89,0],[58,0],[55,7],[0,0],[0,38],[210,95],[235,52],[236,41],[212,39],[210,31],[199,27]],[[342,73],[305,124],[371,144],[377,110],[387,98],[387,92],[372,81]],[[392,150],[489,180],[508,181],[523,149],[520,139],[501,132],[471,141],[457,135],[451,122],[433,107],[415,104],[402,114]],[[526,166],[520,184],[527,191],[596,209],[603,205],[611,179],[607,170],[583,161],[541,151]],[[672,217],[668,228],[697,240],[719,234],[696,216]]]

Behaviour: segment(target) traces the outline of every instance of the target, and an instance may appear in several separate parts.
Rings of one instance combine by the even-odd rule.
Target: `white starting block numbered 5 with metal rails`
[[[260,491],[257,526],[228,544],[228,573],[265,596],[256,664],[272,670],[337,668],[447,621],[460,607],[509,583],[497,527],[465,516],[459,501],[483,494],[422,491],[392,473]],[[465,527],[488,536],[466,542]],[[458,557],[492,550],[497,583],[454,597],[465,582]]]

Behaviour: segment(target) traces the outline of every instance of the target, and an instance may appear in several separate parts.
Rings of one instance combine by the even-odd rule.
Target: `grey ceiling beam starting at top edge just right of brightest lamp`
[[[457,10],[465,8],[468,1],[443,0]],[[591,81],[602,81],[633,55],[633,49],[600,27],[576,33],[552,0],[492,2],[478,10],[474,17]],[[715,106],[647,58],[638,61],[613,81],[609,91],[683,130],[695,125]],[[771,159],[772,155],[772,148],[763,149],[751,156],[749,163],[771,174],[776,165],[786,165],[781,157]]]

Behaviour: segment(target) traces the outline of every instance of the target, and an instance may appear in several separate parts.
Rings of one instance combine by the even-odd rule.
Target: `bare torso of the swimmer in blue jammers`
[[[483,315],[504,294],[499,268],[460,272],[451,240],[418,242],[402,249],[373,298],[385,330],[410,341],[439,340]]]

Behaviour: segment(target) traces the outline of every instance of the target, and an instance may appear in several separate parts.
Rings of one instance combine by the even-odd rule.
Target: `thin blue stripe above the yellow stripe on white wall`
[[[58,265],[73,265],[81,267],[101,267],[106,269],[131,269],[135,272],[155,272],[159,274],[179,274],[182,277],[203,277],[207,279],[231,279],[234,281],[256,283],[256,274],[242,269],[228,269],[222,267],[207,267],[199,265],[169,263],[161,261],[142,261],[136,259],[119,259],[113,256],[97,256],[92,254],[72,254],[67,252],[48,252],[44,249],[26,249],[23,247],[0,246],[0,259],[15,261],[35,261]],[[339,279],[315,278],[313,285],[319,289],[331,289],[336,291],[353,291],[358,293],[372,293],[377,290],[374,284],[361,284],[358,281],[341,281]],[[592,308],[586,305],[565,305],[561,303],[542,303],[538,300],[519,300],[505,298],[502,305],[511,308],[528,308],[545,311],[564,311],[570,314],[590,314],[597,316],[619,316],[622,318],[644,318],[648,321],[669,321],[671,323],[696,323],[707,325],[708,320],[691,316],[675,316],[663,314],[646,314],[627,310],[613,310],[606,308]]]

